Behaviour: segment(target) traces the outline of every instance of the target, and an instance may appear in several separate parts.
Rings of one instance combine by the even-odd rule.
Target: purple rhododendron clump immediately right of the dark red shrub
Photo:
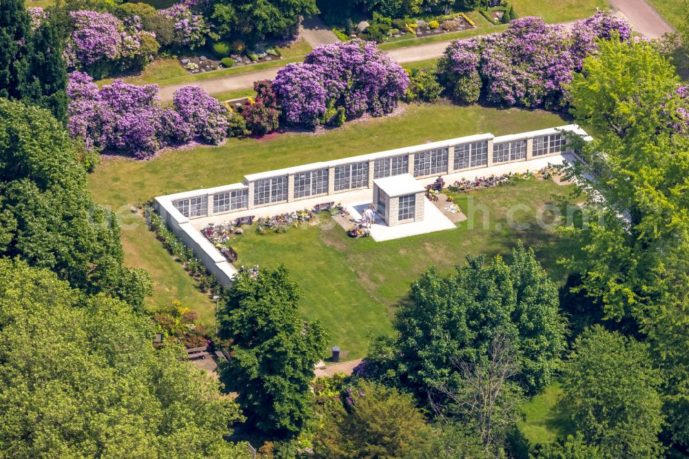
[[[280,69],[273,82],[285,121],[313,128],[330,108],[344,107],[348,119],[381,116],[395,109],[409,75],[373,42],[321,45],[304,63]]]

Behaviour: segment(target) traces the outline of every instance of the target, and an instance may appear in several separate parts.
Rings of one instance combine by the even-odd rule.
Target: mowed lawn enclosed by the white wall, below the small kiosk
[[[304,292],[301,307],[307,318],[318,318],[332,335],[331,345],[342,347],[344,358],[365,355],[369,336],[388,334],[391,318],[408,301],[409,286],[434,265],[449,274],[464,263],[466,254],[507,256],[517,241],[534,247],[557,281],[564,272],[555,257],[553,233],[536,225],[544,205],[558,205],[572,197],[572,185],[530,179],[515,185],[469,194],[455,194],[455,202],[469,216],[454,230],[376,242],[352,239],[332,218],[322,214],[317,225],[302,224],[282,234],[259,235],[253,227],[232,241],[238,263],[274,268],[285,265]],[[427,203],[426,205],[433,205]],[[521,206],[518,231],[507,224],[507,212]]]

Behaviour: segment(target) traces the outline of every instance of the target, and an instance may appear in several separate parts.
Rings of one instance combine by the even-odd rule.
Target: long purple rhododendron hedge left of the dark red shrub
[[[99,89],[88,74],[72,72],[67,88],[70,135],[84,139],[89,150],[119,152],[138,159],[194,136],[209,143],[222,141],[227,131],[223,106],[193,89],[175,93],[175,101],[182,107],[178,112],[177,105],[174,109],[159,105],[158,85],[137,86],[115,80]]]

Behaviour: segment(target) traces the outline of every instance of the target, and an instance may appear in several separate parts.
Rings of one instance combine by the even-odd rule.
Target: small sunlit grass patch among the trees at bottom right
[[[519,423],[519,428],[531,447],[538,443],[553,442],[558,437],[564,438],[568,433],[573,433],[571,421],[557,407],[557,402],[563,395],[559,382],[554,381],[546,387],[543,394],[533,397],[524,405],[526,418]]]

